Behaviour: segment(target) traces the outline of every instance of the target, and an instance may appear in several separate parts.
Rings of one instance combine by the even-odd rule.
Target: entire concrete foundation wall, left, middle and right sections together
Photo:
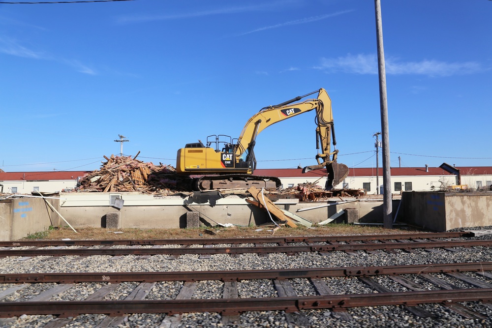
[[[110,205],[116,196],[123,203],[120,208]],[[186,228],[189,212],[198,212],[201,224],[211,226],[226,223],[251,226],[271,222],[266,211],[247,203],[246,197],[234,195],[222,198],[211,194],[161,197],[139,193],[62,193],[60,200],[48,201],[75,228],[105,227],[108,213],[111,213],[113,228]],[[399,202],[393,201],[394,216]],[[382,200],[333,203],[297,203],[297,200],[282,199],[277,202],[277,207],[314,223],[330,218],[341,209],[351,209],[350,220],[353,222],[382,222]],[[335,222],[343,222],[344,217]],[[50,226],[66,225],[42,198],[1,200],[0,219],[0,240],[22,239]],[[397,220],[433,231],[490,226],[492,193],[404,192]]]

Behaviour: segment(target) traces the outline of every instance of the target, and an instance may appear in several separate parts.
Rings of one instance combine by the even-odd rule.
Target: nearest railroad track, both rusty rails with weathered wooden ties
[[[343,320],[353,320],[347,311],[355,307],[399,306],[413,316],[437,318],[432,306],[442,306],[464,318],[491,323],[492,262],[432,265],[302,268],[279,270],[188,271],[188,272],[85,272],[85,273],[13,273],[0,276],[8,284],[0,292],[0,317],[53,315],[46,328],[63,327],[77,316],[105,314],[97,327],[122,324],[129,314],[162,315],[161,327],[177,327],[181,314],[217,312],[222,324],[241,323],[246,311],[283,311],[288,322],[305,326],[306,311],[329,311]],[[245,286],[261,280],[271,287],[272,297],[243,297]],[[346,293],[344,285],[363,285],[360,292]],[[13,283],[15,282],[15,284]],[[78,285],[99,283],[91,295],[79,300],[63,300]],[[105,299],[125,282],[133,290],[124,299]],[[179,292],[171,299],[153,293],[157,285],[179,282]],[[205,289],[211,283],[220,286],[215,298],[195,298],[199,283]],[[44,292],[25,301],[8,299],[32,284],[46,284]],[[307,288],[308,286],[308,288]],[[153,299],[148,299],[152,295]],[[220,295],[221,294],[221,295]],[[49,300],[58,297],[60,300]],[[473,306],[463,304],[473,302]],[[478,304],[478,305],[477,305]],[[8,323],[14,319],[0,319]],[[304,323],[304,324],[303,324]]]

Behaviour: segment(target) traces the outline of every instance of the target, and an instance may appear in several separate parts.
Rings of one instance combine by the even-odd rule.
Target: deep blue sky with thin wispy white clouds
[[[391,165],[491,166],[492,1],[381,7]],[[119,134],[125,155],[175,166],[319,88],[338,161],[375,167],[375,33],[370,0],[0,4],[0,168],[92,171]],[[258,168],[316,164],[314,128],[311,112],[263,131]]]

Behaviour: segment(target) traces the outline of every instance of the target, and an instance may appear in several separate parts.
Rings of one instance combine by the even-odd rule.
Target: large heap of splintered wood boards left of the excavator
[[[76,191],[138,191],[166,195],[191,190],[191,179],[178,175],[171,165],[154,165],[136,157],[104,156],[107,161],[102,162],[99,170],[80,179]]]

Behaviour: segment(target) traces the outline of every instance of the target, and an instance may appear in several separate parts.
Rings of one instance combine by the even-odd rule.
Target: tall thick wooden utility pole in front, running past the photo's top
[[[381,0],[374,0],[376,14],[377,63],[379,74],[379,103],[381,105],[381,134],[383,142],[383,226],[393,228],[393,206],[391,204],[390,137],[388,127],[388,98],[386,94],[386,68],[384,65],[383,23]]]

